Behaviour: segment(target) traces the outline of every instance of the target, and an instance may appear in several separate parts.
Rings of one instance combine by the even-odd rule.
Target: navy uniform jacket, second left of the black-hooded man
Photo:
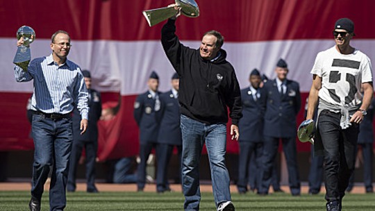
[[[157,92],[160,96],[161,92]],[[138,95],[134,103],[134,119],[140,128],[140,144],[156,143],[159,131],[159,119],[155,110],[156,99],[149,91]]]

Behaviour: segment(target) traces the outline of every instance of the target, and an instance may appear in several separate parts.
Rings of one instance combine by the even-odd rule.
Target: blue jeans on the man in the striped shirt
[[[49,186],[50,210],[64,210],[72,149],[72,119],[53,120],[44,115],[33,115],[34,163],[31,195],[42,199],[43,187],[52,167]]]

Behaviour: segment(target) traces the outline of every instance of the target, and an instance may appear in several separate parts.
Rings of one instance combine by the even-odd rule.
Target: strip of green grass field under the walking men
[[[0,210],[28,210],[29,192],[0,192]],[[294,197],[290,194],[232,194],[235,210],[326,210],[324,195]],[[183,194],[179,192],[156,194],[150,192],[100,192],[67,194],[69,210],[183,210]],[[48,192],[42,198],[42,210],[49,210]],[[201,210],[216,210],[212,193],[202,193]],[[375,210],[375,194],[347,194],[343,210]]]

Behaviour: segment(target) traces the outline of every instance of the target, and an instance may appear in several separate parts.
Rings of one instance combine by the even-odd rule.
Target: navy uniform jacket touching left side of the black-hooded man
[[[172,90],[160,94],[160,129],[158,143],[181,145],[182,135],[180,128],[180,105],[174,98]]]

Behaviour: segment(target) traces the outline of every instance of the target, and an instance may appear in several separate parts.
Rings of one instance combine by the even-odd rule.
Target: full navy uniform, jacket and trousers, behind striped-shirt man
[[[85,71],[82,71],[83,76]],[[90,75],[89,75],[90,76]],[[95,187],[95,160],[97,158],[98,149],[98,126],[97,121],[101,116],[101,96],[96,90],[88,90],[88,105],[89,105],[89,120],[88,129],[81,135],[81,115],[79,110],[73,110],[73,145],[72,153],[70,155],[69,176],[67,182],[67,191],[74,192],[76,190],[76,169],[78,161],[81,158],[82,150],[85,148],[85,161],[86,161],[86,180],[87,191],[97,192]]]

